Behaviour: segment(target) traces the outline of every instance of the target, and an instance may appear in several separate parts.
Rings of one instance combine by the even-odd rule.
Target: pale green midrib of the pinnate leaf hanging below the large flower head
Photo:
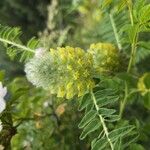
[[[97,105],[96,98],[95,98],[95,95],[94,95],[93,91],[91,91],[91,96],[92,96],[92,99],[93,99],[93,102],[94,102],[96,111],[98,112],[98,111],[99,111],[99,107],[98,107],[98,105]],[[111,150],[114,150],[114,146],[113,146],[113,143],[111,142],[111,140],[110,140],[110,138],[109,138],[109,133],[108,133],[108,129],[107,129],[107,127],[106,127],[104,118],[103,118],[100,114],[99,114],[98,116],[99,116],[99,118],[100,118],[101,124],[102,124],[102,126],[103,126],[103,129],[104,129],[106,138],[107,138],[107,140],[108,140],[108,142],[109,142],[109,145],[110,145],[110,147],[111,147]]]

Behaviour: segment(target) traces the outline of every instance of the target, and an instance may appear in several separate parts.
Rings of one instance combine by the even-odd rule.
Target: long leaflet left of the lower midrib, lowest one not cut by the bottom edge
[[[98,119],[92,120],[82,131],[80,139],[83,140],[89,133],[97,130],[100,127],[100,122]]]

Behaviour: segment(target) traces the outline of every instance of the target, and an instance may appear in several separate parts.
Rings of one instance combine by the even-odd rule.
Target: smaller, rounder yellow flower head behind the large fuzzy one
[[[118,70],[119,51],[110,43],[91,44],[88,50],[94,60],[97,73],[112,73]]]

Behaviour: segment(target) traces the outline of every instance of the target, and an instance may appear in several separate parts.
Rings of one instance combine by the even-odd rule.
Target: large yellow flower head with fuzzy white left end
[[[25,72],[30,82],[57,97],[71,99],[94,87],[92,55],[81,48],[50,49],[43,57],[32,58]]]

